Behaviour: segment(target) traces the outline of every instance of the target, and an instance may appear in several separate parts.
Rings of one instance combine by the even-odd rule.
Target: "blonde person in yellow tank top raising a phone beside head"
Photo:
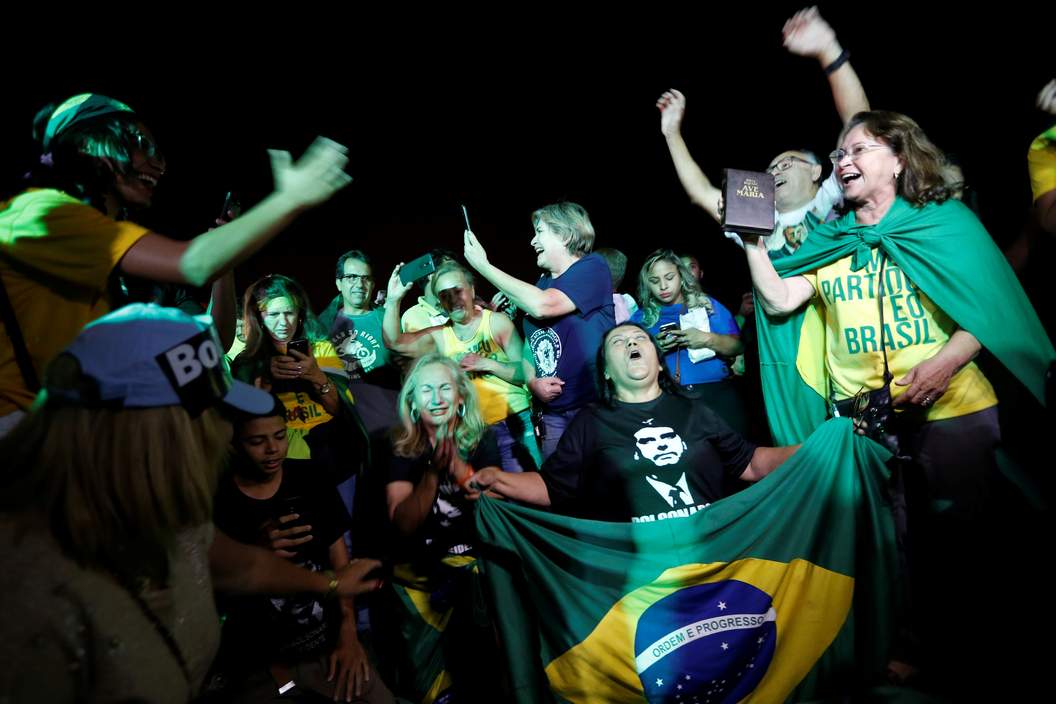
[[[524,387],[524,346],[513,323],[506,316],[475,306],[472,272],[457,262],[447,262],[429,284],[448,316],[447,322],[400,332],[400,301],[411,288],[400,281],[401,266],[389,280],[382,327],[385,345],[409,357],[440,351],[456,360],[476,387],[484,421],[491,425],[498,442],[503,469],[539,470],[543,459],[531,423],[531,398]]]

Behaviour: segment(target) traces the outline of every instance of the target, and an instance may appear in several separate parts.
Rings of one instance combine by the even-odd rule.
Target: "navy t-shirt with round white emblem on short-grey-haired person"
[[[551,411],[571,411],[598,398],[595,358],[601,336],[616,325],[612,274],[601,254],[587,254],[558,279],[544,274],[536,288],[557,288],[576,304],[567,316],[525,317],[525,342],[531,349],[536,377],[565,382],[561,396],[546,404]]]

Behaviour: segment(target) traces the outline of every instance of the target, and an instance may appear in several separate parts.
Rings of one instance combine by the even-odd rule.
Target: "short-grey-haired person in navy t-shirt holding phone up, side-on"
[[[531,285],[490,262],[466,231],[466,261],[526,312],[525,378],[542,405],[543,456],[549,457],[576,413],[597,398],[593,372],[602,334],[616,325],[612,274],[591,254],[595,231],[587,211],[557,203],[531,215],[535,264],[546,273]],[[545,435],[544,435],[545,433]]]

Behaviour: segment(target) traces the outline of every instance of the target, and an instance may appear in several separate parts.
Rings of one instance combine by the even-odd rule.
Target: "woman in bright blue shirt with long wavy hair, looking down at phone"
[[[748,416],[730,377],[732,360],[744,349],[740,328],[727,308],[710,299],[682,260],[670,249],[653,252],[638,274],[642,307],[630,320],[641,323],[666,353],[679,383],[701,398],[727,423],[748,434]],[[662,325],[674,329],[660,331]]]

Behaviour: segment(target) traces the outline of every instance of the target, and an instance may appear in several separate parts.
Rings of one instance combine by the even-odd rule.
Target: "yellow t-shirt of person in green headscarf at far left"
[[[54,189],[31,188],[0,201],[0,277],[38,379],[84,325],[110,312],[110,274],[147,232]],[[0,332],[0,416],[34,397],[11,339]]]

